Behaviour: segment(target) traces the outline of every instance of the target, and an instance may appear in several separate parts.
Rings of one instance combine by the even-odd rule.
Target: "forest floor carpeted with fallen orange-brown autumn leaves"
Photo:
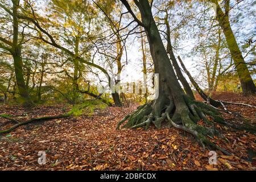
[[[197,97],[199,98],[199,97]],[[256,105],[256,97],[218,93],[215,99]],[[200,98],[199,98],[200,99]],[[131,107],[96,109],[92,115],[35,122],[0,135],[0,170],[255,170],[256,137],[218,125],[224,139],[214,143],[234,155],[217,152],[217,164],[209,164],[204,150],[192,135],[171,129],[115,130],[117,123],[131,113]],[[226,105],[255,124],[253,107]],[[0,114],[25,121],[34,117],[65,113],[68,105],[40,105],[24,110],[15,105],[0,105]],[[224,114],[230,122],[234,115]],[[0,118],[0,130],[7,120]],[[38,152],[46,151],[46,164],[38,164]]]

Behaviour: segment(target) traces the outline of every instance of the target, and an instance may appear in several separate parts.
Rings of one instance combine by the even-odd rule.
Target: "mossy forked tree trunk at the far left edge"
[[[15,70],[15,78],[16,78],[16,84],[18,85],[19,94],[23,99],[23,104],[26,106],[31,106],[32,101],[30,98],[30,95],[28,93],[28,88],[24,81],[24,75],[23,75],[23,63],[22,63],[22,44],[24,44],[24,28],[23,32],[21,33],[22,36],[20,36],[19,32],[19,18],[18,18],[18,9],[19,9],[19,0],[12,0],[12,8],[9,10],[7,8],[7,5],[0,2],[0,7],[4,9],[13,19],[13,33],[11,33],[13,36],[13,40],[8,40],[7,38],[3,38],[2,35],[0,35],[0,48],[5,49],[6,51],[9,51],[11,55],[13,56],[14,60],[14,70]],[[7,36],[10,37],[10,36]]]

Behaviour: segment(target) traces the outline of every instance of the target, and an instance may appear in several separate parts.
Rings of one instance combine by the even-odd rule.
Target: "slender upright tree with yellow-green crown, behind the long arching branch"
[[[55,34],[73,50],[75,57],[89,57],[91,39],[90,23],[96,14],[87,1],[63,1],[52,0],[49,2],[49,13],[52,14],[52,27],[56,28]],[[85,13],[86,12],[86,13]],[[64,21],[60,21],[64,19]],[[63,36],[61,36],[63,35]],[[79,78],[82,75],[82,66],[78,59],[72,57],[73,77],[72,77],[72,103],[77,104],[79,96]]]

